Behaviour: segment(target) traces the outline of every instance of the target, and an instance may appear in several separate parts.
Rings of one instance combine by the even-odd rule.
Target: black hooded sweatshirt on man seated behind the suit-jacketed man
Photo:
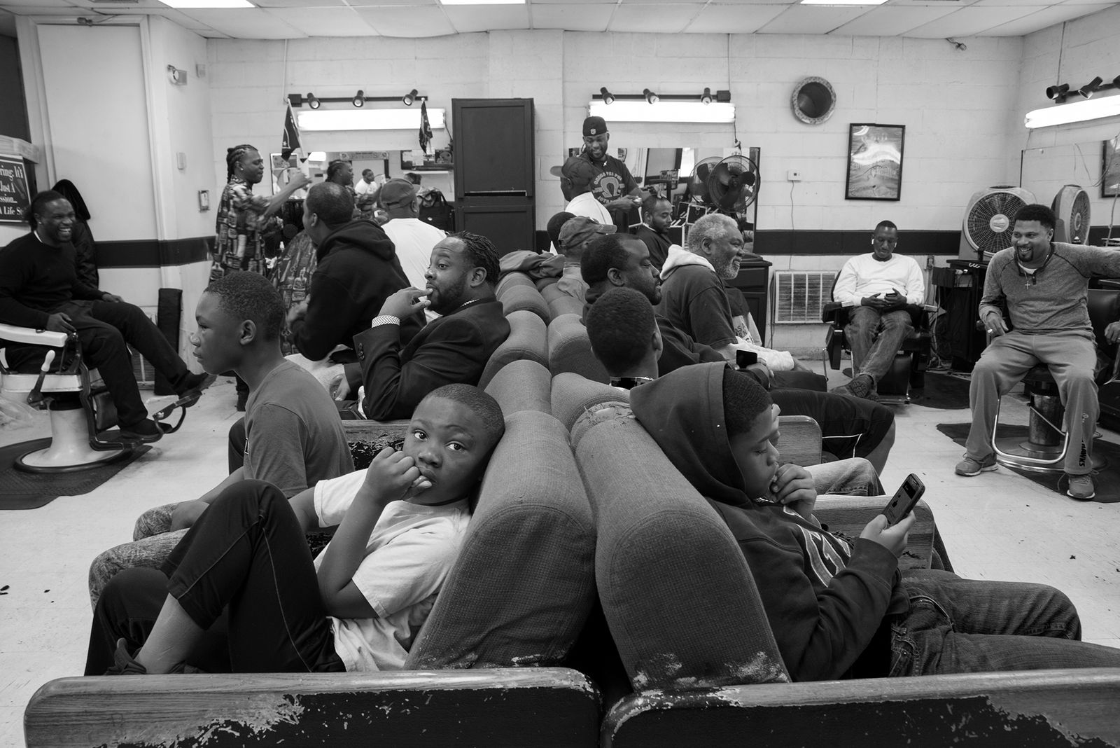
[[[408,288],[409,281],[393,242],[372,221],[336,228],[315,254],[307,315],[291,324],[291,337],[302,355],[320,361],[336,345],[351,346],[355,335],[370,328],[385,299]],[[416,325],[409,325],[413,329],[405,340],[416,334]]]

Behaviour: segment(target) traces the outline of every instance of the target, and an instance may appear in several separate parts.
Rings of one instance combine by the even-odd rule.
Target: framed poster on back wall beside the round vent
[[[899,199],[905,139],[905,124],[849,124],[844,199]]]

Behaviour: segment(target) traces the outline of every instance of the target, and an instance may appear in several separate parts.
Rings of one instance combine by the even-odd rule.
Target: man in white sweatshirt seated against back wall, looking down
[[[846,262],[837,278],[832,300],[851,307],[843,331],[851,345],[852,377],[834,392],[875,400],[879,377],[914,330],[905,307],[925,300],[925,277],[913,258],[895,254],[897,244],[898,227],[880,221],[871,251]]]

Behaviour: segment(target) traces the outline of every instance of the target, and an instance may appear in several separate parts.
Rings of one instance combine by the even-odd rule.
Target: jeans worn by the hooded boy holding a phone
[[[1081,641],[1073,602],[1045,585],[903,572],[911,609],[892,624],[890,675],[1118,667],[1120,649]]]

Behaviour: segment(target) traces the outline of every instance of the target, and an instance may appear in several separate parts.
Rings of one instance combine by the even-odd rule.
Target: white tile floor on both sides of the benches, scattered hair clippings
[[[814,368],[820,363],[810,364]],[[830,372],[833,383],[844,381]],[[164,404],[169,399],[153,399]],[[192,409],[183,430],[95,492],[63,496],[38,509],[0,512],[0,748],[24,745],[22,713],[47,681],[81,674],[90,626],[86,571],[102,550],[130,540],[150,506],[195,498],[225,474],[225,434],[235,420],[231,381]],[[1009,399],[1008,423],[1026,423]],[[41,414],[40,414],[41,415]],[[884,473],[893,489],[911,471],[926,485],[956,571],[967,577],[1043,581],[1065,590],[1081,611],[1085,638],[1120,646],[1120,504],[1075,502],[1000,469],[953,475],[961,448],[937,423],[965,422],[967,410],[896,408],[897,439]],[[0,429],[0,445],[47,433]],[[1104,432],[1120,443],[1120,437]]]

